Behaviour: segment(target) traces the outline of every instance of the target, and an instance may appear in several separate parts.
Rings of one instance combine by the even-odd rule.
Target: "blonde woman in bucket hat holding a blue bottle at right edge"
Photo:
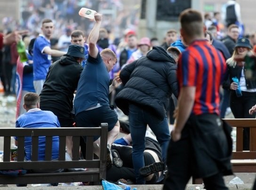
[[[250,80],[244,68],[244,61],[239,61],[239,57],[244,57],[248,52],[252,51],[252,46],[248,38],[238,39],[232,57],[227,63],[229,80],[223,84],[223,88],[231,90],[230,108],[235,118],[255,118],[256,114],[250,115],[248,110],[256,104],[256,81]],[[233,78],[238,79],[238,83]],[[241,89],[241,96],[237,95],[236,90]],[[243,129],[243,150],[249,150],[249,128]]]

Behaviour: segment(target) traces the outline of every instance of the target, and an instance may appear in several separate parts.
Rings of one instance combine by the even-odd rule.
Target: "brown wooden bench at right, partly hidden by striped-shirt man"
[[[236,150],[232,152],[234,173],[256,173],[256,119],[223,119],[236,128]],[[243,128],[250,128],[249,151],[243,151]],[[192,184],[202,184],[202,179],[192,178]]]

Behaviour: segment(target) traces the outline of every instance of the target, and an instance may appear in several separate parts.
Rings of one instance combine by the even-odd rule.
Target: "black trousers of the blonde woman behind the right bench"
[[[230,108],[235,118],[255,118],[256,113],[250,115],[249,109],[256,104],[256,92],[242,91],[237,97],[235,91],[230,94]],[[250,129],[243,129],[243,150],[249,150]]]

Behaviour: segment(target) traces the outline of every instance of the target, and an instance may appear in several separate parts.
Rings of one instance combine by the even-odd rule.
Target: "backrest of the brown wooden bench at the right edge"
[[[236,151],[232,159],[256,159],[256,119],[223,119],[230,126],[236,127]],[[243,128],[250,128],[249,151],[243,151]]]

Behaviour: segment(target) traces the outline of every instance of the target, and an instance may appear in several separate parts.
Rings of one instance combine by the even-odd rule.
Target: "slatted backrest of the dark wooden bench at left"
[[[11,137],[12,136],[12,137]],[[46,137],[45,161],[38,160],[38,139]],[[51,161],[52,137],[59,136],[59,159]],[[65,161],[66,136],[73,137],[72,161]],[[86,158],[80,158],[80,137],[86,136]],[[93,137],[100,136],[100,158],[93,156]],[[0,169],[65,169],[65,168],[106,168],[107,123],[96,128],[2,128],[4,137],[3,162]],[[17,161],[10,161],[11,138],[18,137]],[[32,161],[24,161],[24,137],[32,137]]]

